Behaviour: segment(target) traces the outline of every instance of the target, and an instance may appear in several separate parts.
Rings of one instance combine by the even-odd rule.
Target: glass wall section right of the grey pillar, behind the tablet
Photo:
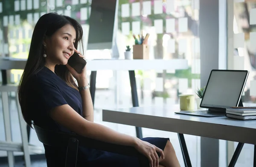
[[[228,13],[228,69],[249,70],[242,101],[256,106],[256,2],[253,0],[227,0]],[[236,149],[237,142],[228,144],[227,155]],[[253,145],[244,144],[236,167],[253,166]]]

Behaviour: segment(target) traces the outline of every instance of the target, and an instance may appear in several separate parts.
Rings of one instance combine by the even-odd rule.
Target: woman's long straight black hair
[[[29,56],[18,86],[18,96],[21,111],[24,120],[29,126],[31,126],[31,116],[28,111],[29,101],[26,100],[26,96],[28,95],[27,93],[29,91],[30,78],[37,74],[45,66],[45,58],[43,57],[44,37],[51,37],[58,29],[67,24],[72,25],[76,30],[76,41],[74,43],[75,48],[77,49],[78,43],[81,40],[83,49],[83,30],[81,25],[75,19],[57,13],[48,13],[41,16],[35,25],[29,49]],[[55,73],[69,86],[77,89],[73,76],[65,65],[55,66]]]

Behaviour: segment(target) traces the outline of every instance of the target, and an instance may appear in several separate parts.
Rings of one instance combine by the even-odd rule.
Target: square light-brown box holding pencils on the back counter
[[[148,45],[134,45],[133,59],[149,59]]]

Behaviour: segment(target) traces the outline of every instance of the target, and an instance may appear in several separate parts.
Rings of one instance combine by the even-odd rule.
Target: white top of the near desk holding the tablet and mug
[[[179,115],[179,105],[103,109],[102,120],[155,130],[256,144],[256,120]]]

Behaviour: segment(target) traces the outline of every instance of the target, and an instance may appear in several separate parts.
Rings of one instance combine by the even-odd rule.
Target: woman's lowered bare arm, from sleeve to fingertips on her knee
[[[159,158],[157,152],[159,152],[164,159],[163,150],[160,148],[146,141],[142,141],[139,138],[125,135],[103,125],[87,121],[68,104],[55,107],[50,112],[50,116],[58,124],[61,124],[64,127],[67,127],[67,129],[84,137],[135,147],[140,153],[148,158],[151,167],[158,167]]]

